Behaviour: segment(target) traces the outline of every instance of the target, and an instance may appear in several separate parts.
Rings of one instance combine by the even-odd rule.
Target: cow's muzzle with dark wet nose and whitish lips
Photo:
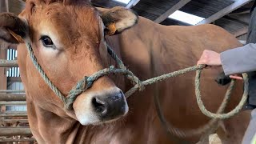
[[[82,125],[112,122],[128,112],[126,98],[117,87],[81,94],[74,101],[73,107]]]

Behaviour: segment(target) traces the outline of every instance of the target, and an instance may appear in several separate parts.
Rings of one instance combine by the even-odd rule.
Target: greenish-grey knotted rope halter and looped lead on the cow
[[[109,74],[124,74],[124,75],[126,75],[126,77],[130,80],[130,82],[132,82],[134,84],[134,87],[132,87],[130,90],[128,90],[125,94],[126,98],[129,98],[130,95],[134,94],[134,92],[136,92],[137,90],[143,90],[144,86],[148,86],[148,85],[154,84],[156,82],[161,82],[163,80],[166,80],[167,78],[177,77],[178,75],[186,74],[188,72],[197,70],[197,74],[196,74],[196,78],[195,78],[195,93],[197,96],[198,106],[203,114],[206,114],[206,116],[208,116],[210,118],[214,118],[214,119],[211,120],[208,125],[206,125],[202,128],[199,128],[198,130],[188,131],[187,133],[184,133],[181,130],[178,130],[178,129],[168,125],[168,126],[170,126],[169,129],[170,129],[171,133],[176,134],[177,136],[182,137],[182,138],[186,137],[186,136],[194,135],[194,134],[199,134],[199,133],[201,134],[203,130],[210,129],[210,126],[212,126],[216,122],[217,118],[218,119],[230,118],[230,117],[234,116],[234,114],[238,114],[238,112],[240,110],[242,110],[242,106],[245,104],[246,99],[247,99],[249,84],[248,84],[247,75],[243,74],[244,93],[242,95],[241,102],[239,102],[238,106],[236,106],[234,108],[234,110],[231,110],[228,114],[220,114],[225,109],[226,103],[230,99],[230,93],[234,87],[234,81],[232,81],[230,84],[230,87],[228,88],[228,90],[226,92],[226,96],[222,102],[222,106],[220,106],[220,108],[218,109],[218,114],[213,114],[210,111],[206,110],[205,106],[203,105],[203,102],[201,99],[201,94],[200,94],[200,74],[201,74],[202,69],[205,67],[204,65],[191,66],[191,67],[188,67],[183,70],[174,71],[169,74],[163,74],[161,76],[158,76],[155,78],[150,78],[150,79],[147,79],[146,81],[141,82],[139,80],[139,78],[136,77],[130,70],[126,69],[126,66],[124,66],[123,62],[120,60],[120,58],[118,58],[117,54],[114,53],[114,51],[110,48],[110,46],[107,46],[108,53],[110,54],[110,56],[112,58],[114,58],[115,62],[118,63],[119,69],[114,68],[114,66],[110,66],[109,68],[99,70],[95,74],[92,74],[90,77],[82,78],[82,80],[80,82],[78,82],[76,84],[76,86],[74,86],[74,88],[72,88],[72,90],[70,90],[70,93],[67,95],[67,97],[65,97],[61,93],[61,91],[58,90],[58,88],[56,86],[54,86],[54,84],[52,82],[50,82],[50,79],[47,77],[45,72],[42,70],[42,67],[38,64],[37,58],[35,58],[35,56],[34,56],[34,52],[33,52],[30,40],[26,39],[26,46],[28,48],[30,58],[31,58],[32,62],[34,63],[34,66],[36,67],[39,74],[42,76],[42,78],[46,82],[46,84],[48,86],[50,86],[50,89],[53,90],[54,93],[58,96],[58,98],[60,98],[62,100],[66,110],[72,110],[72,105],[73,105],[75,98],[77,98],[78,95],[82,94],[82,92],[84,92],[85,90],[89,89],[93,85],[94,81],[96,81],[98,78],[101,78],[102,76],[105,76],[105,75],[109,75]],[[162,117],[162,118],[164,118],[164,117]]]

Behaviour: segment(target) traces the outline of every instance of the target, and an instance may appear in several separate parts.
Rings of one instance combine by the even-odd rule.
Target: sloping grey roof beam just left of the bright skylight
[[[172,6],[169,10],[167,10],[164,14],[160,15],[154,22],[160,23],[164,21],[166,18],[173,14],[176,10],[180,10],[183,6],[185,6],[191,0],[180,0],[177,4]]]

